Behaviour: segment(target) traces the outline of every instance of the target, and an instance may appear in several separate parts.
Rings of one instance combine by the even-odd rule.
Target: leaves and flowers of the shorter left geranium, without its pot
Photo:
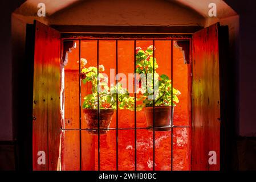
[[[99,108],[116,109],[116,95],[118,96],[119,109],[131,109],[134,105],[134,98],[129,97],[127,89],[124,89],[120,83],[115,86],[108,86],[108,77],[103,75],[104,65],[99,65],[99,76],[97,76],[97,67],[86,67],[87,60],[81,59],[81,78],[84,84],[92,83],[91,94],[84,97],[83,109],[97,109],[97,78],[99,77]],[[118,94],[117,94],[118,93]]]

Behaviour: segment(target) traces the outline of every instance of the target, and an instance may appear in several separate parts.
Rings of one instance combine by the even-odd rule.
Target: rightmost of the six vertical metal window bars
[[[171,148],[170,148],[170,150],[171,150],[171,161],[170,161],[170,169],[171,169],[171,171],[173,171],[173,40],[171,40],[171,43],[170,43],[170,59],[171,59],[171,61],[170,61],[170,80],[171,80],[171,83],[172,83],[172,88],[171,88],[171,98],[172,98],[172,100],[171,100],[171,104],[172,104],[172,111],[170,112],[170,118],[171,118],[171,130],[170,130],[170,132],[171,132]]]

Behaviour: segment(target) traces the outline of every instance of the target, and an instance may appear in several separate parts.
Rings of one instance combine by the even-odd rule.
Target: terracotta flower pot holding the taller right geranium
[[[170,130],[173,110],[172,106],[155,106],[155,131]],[[153,127],[153,107],[145,107],[144,112],[148,127]]]

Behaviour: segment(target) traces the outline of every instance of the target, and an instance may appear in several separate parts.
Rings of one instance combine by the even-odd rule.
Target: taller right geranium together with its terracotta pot
[[[158,67],[153,56],[153,46],[149,46],[145,51],[140,47],[136,48],[136,73],[140,75],[136,100],[141,103],[136,109],[144,108],[149,129],[154,127],[155,131],[169,131],[173,109],[179,102],[178,96],[181,93],[172,87],[168,76],[159,76],[156,72]]]

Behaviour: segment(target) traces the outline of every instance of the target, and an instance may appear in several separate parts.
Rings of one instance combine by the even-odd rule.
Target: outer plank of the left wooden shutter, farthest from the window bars
[[[48,59],[45,59],[47,46],[47,27],[36,23],[35,54],[34,54],[34,90],[33,90],[33,169],[48,170],[48,137],[47,137],[47,94]],[[39,165],[38,151],[46,153],[46,164]]]

